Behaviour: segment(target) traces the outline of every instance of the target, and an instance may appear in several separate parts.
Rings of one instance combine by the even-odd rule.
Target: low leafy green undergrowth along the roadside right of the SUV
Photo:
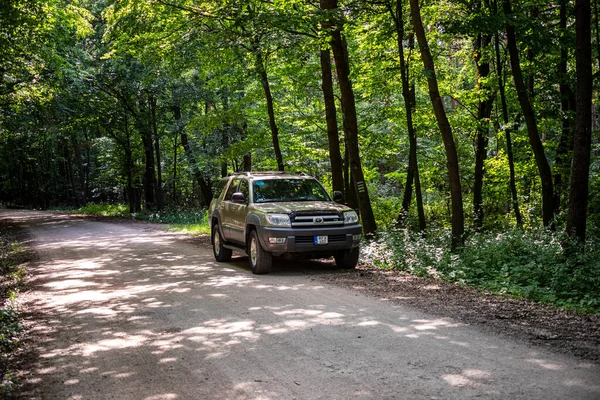
[[[600,243],[571,252],[562,234],[543,229],[474,234],[451,252],[447,230],[426,237],[391,229],[363,247],[363,261],[493,293],[582,312],[600,312]]]

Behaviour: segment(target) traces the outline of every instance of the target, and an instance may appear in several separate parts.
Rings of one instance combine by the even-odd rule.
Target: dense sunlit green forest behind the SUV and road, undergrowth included
[[[598,1],[3,0],[0,206],[302,171],[365,261],[600,309]]]

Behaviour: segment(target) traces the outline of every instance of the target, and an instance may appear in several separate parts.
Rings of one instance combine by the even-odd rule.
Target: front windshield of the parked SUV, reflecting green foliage
[[[330,201],[329,195],[314,179],[267,179],[252,182],[255,203],[281,201]]]

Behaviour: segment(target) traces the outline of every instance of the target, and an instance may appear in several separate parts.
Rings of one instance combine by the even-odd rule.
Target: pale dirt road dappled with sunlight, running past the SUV
[[[144,224],[0,218],[39,255],[22,398],[600,399],[598,365],[330,286],[320,264],[253,276]]]

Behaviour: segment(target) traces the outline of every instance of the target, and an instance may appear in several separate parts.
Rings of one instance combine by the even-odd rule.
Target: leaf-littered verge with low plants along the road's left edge
[[[14,363],[24,329],[17,295],[25,284],[24,264],[29,254],[11,229],[0,230],[0,398],[8,396],[16,383]]]

